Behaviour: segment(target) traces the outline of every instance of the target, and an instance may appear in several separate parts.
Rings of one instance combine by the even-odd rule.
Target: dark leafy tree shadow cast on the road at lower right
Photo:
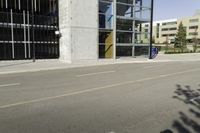
[[[192,89],[189,85],[176,87],[173,98],[185,103],[188,111],[179,111],[172,128],[178,133],[200,133],[200,89]]]

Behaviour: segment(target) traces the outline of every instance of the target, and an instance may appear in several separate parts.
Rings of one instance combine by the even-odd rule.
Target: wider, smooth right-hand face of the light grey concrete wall
[[[72,0],[72,60],[98,58],[98,0]]]

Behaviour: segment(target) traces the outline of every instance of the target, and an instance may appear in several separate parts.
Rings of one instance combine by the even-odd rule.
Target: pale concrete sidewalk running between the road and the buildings
[[[0,75],[23,72],[37,72],[44,70],[67,69],[76,67],[87,67],[109,64],[126,64],[126,63],[155,63],[155,62],[172,62],[172,61],[200,61],[200,54],[177,54],[164,55],[159,54],[155,59],[147,58],[120,58],[117,60],[100,59],[98,61],[79,61],[72,64],[64,63],[58,59],[53,60],[19,60],[19,61],[0,61]]]

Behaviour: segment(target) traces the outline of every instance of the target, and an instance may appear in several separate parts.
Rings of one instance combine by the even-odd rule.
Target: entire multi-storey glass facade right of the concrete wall
[[[148,56],[150,21],[151,0],[99,0],[99,57]]]

